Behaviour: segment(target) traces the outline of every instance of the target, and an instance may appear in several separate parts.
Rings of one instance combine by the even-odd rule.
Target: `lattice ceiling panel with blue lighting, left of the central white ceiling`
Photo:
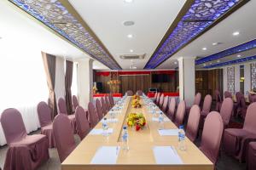
[[[43,22],[44,25],[49,26],[69,42],[83,49],[92,58],[107,65],[110,69],[121,69],[113,57],[109,56],[102,46],[96,42],[96,39],[90,35],[90,32],[57,0],[9,1]]]

